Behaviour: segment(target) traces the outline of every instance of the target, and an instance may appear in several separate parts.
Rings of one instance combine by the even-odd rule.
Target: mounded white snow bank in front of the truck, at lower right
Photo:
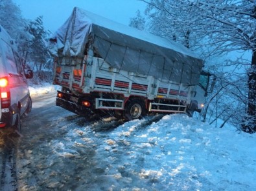
[[[142,129],[139,123],[129,121],[113,130],[97,151],[99,157],[121,152],[108,158],[111,165],[122,161],[122,170],[134,171],[156,190],[256,188],[255,135],[213,128],[185,115],[165,116]]]

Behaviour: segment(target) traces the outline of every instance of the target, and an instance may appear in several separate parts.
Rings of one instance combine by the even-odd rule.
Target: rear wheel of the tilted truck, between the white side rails
[[[125,117],[129,120],[141,119],[145,114],[145,105],[139,99],[128,101],[125,109]]]

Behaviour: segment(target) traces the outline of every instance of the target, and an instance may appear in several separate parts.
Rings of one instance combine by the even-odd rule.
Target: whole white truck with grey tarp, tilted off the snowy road
[[[53,84],[62,86],[56,105],[80,116],[191,115],[204,106],[209,74],[202,59],[167,39],[74,8],[49,50]]]

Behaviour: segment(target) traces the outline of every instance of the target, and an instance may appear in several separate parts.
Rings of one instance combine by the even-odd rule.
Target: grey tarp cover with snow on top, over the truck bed
[[[115,23],[81,8],[53,35],[49,49],[58,57],[83,57],[89,41],[113,68],[152,75],[161,81],[197,85],[203,61],[185,46]]]

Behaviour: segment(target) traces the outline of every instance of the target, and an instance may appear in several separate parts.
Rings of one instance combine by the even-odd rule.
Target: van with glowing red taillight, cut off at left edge
[[[25,70],[17,47],[3,26],[0,25],[0,130],[21,130],[21,116],[32,108],[27,78],[32,70]]]

